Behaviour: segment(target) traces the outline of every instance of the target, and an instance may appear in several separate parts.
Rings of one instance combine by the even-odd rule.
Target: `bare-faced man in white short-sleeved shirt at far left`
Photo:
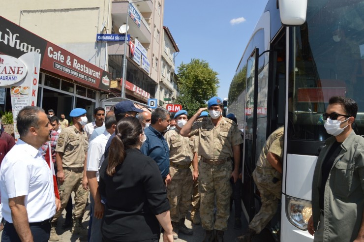
[[[44,110],[27,106],[17,117],[18,143],[1,163],[0,192],[6,220],[1,241],[47,242],[50,220],[61,208],[55,196],[53,171],[39,149],[52,126]]]

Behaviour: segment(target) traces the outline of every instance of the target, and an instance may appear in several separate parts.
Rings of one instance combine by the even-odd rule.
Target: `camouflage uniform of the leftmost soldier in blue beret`
[[[80,132],[74,125],[62,129],[56,151],[63,153],[62,166],[64,182],[59,186],[61,209],[52,222],[56,222],[66,207],[72,191],[75,192],[74,217],[82,218],[85,213],[89,192],[82,188],[84,161],[89,142],[86,132]]]

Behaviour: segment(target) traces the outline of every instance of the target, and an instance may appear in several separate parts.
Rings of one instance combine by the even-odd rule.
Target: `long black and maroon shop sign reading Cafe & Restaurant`
[[[40,68],[95,89],[110,89],[109,72],[0,16],[0,53],[19,58],[29,52],[41,54]]]

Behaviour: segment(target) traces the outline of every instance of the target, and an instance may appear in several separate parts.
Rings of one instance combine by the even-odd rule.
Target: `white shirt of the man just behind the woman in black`
[[[89,150],[87,151],[87,171],[95,171],[97,181],[100,181],[100,174],[98,171],[105,159],[105,147],[110,136],[111,134],[105,130],[89,144]]]

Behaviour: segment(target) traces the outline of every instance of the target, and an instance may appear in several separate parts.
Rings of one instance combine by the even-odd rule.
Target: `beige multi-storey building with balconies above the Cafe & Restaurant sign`
[[[164,81],[161,85],[160,82],[162,78],[165,78],[161,73],[162,59],[169,59],[169,57],[162,57],[165,53],[164,0],[13,0],[12,4],[0,9],[0,15],[111,73],[110,87],[108,91],[105,91],[78,83],[76,79],[44,72],[40,87],[48,90],[50,87],[45,83],[55,86],[51,88],[51,92],[46,91],[42,95],[44,98],[47,96],[55,98],[60,93],[67,94],[55,90],[61,90],[62,87],[61,84],[53,85],[53,82],[73,83],[76,86],[71,94],[78,95],[78,86],[80,86],[79,89],[81,87],[90,89],[90,93],[94,91],[93,98],[90,99],[88,99],[88,91],[85,91],[86,94],[80,91],[82,95],[85,95],[90,109],[93,109],[100,105],[101,100],[121,96],[124,66],[126,66],[124,82],[126,98],[147,103],[148,98],[159,99],[161,96],[160,86]],[[117,35],[117,38],[120,38],[120,27],[125,26],[126,22],[129,40],[108,39],[111,35],[114,37]],[[99,38],[99,36],[102,37]],[[125,65],[123,64],[124,55]],[[164,62],[167,63],[167,61]],[[163,96],[165,88],[168,89],[168,87],[163,87]],[[169,92],[171,97],[176,96],[173,94],[174,91],[169,90]],[[167,95],[169,96],[169,93]],[[72,105],[76,104],[78,104],[77,99],[74,99]]]

